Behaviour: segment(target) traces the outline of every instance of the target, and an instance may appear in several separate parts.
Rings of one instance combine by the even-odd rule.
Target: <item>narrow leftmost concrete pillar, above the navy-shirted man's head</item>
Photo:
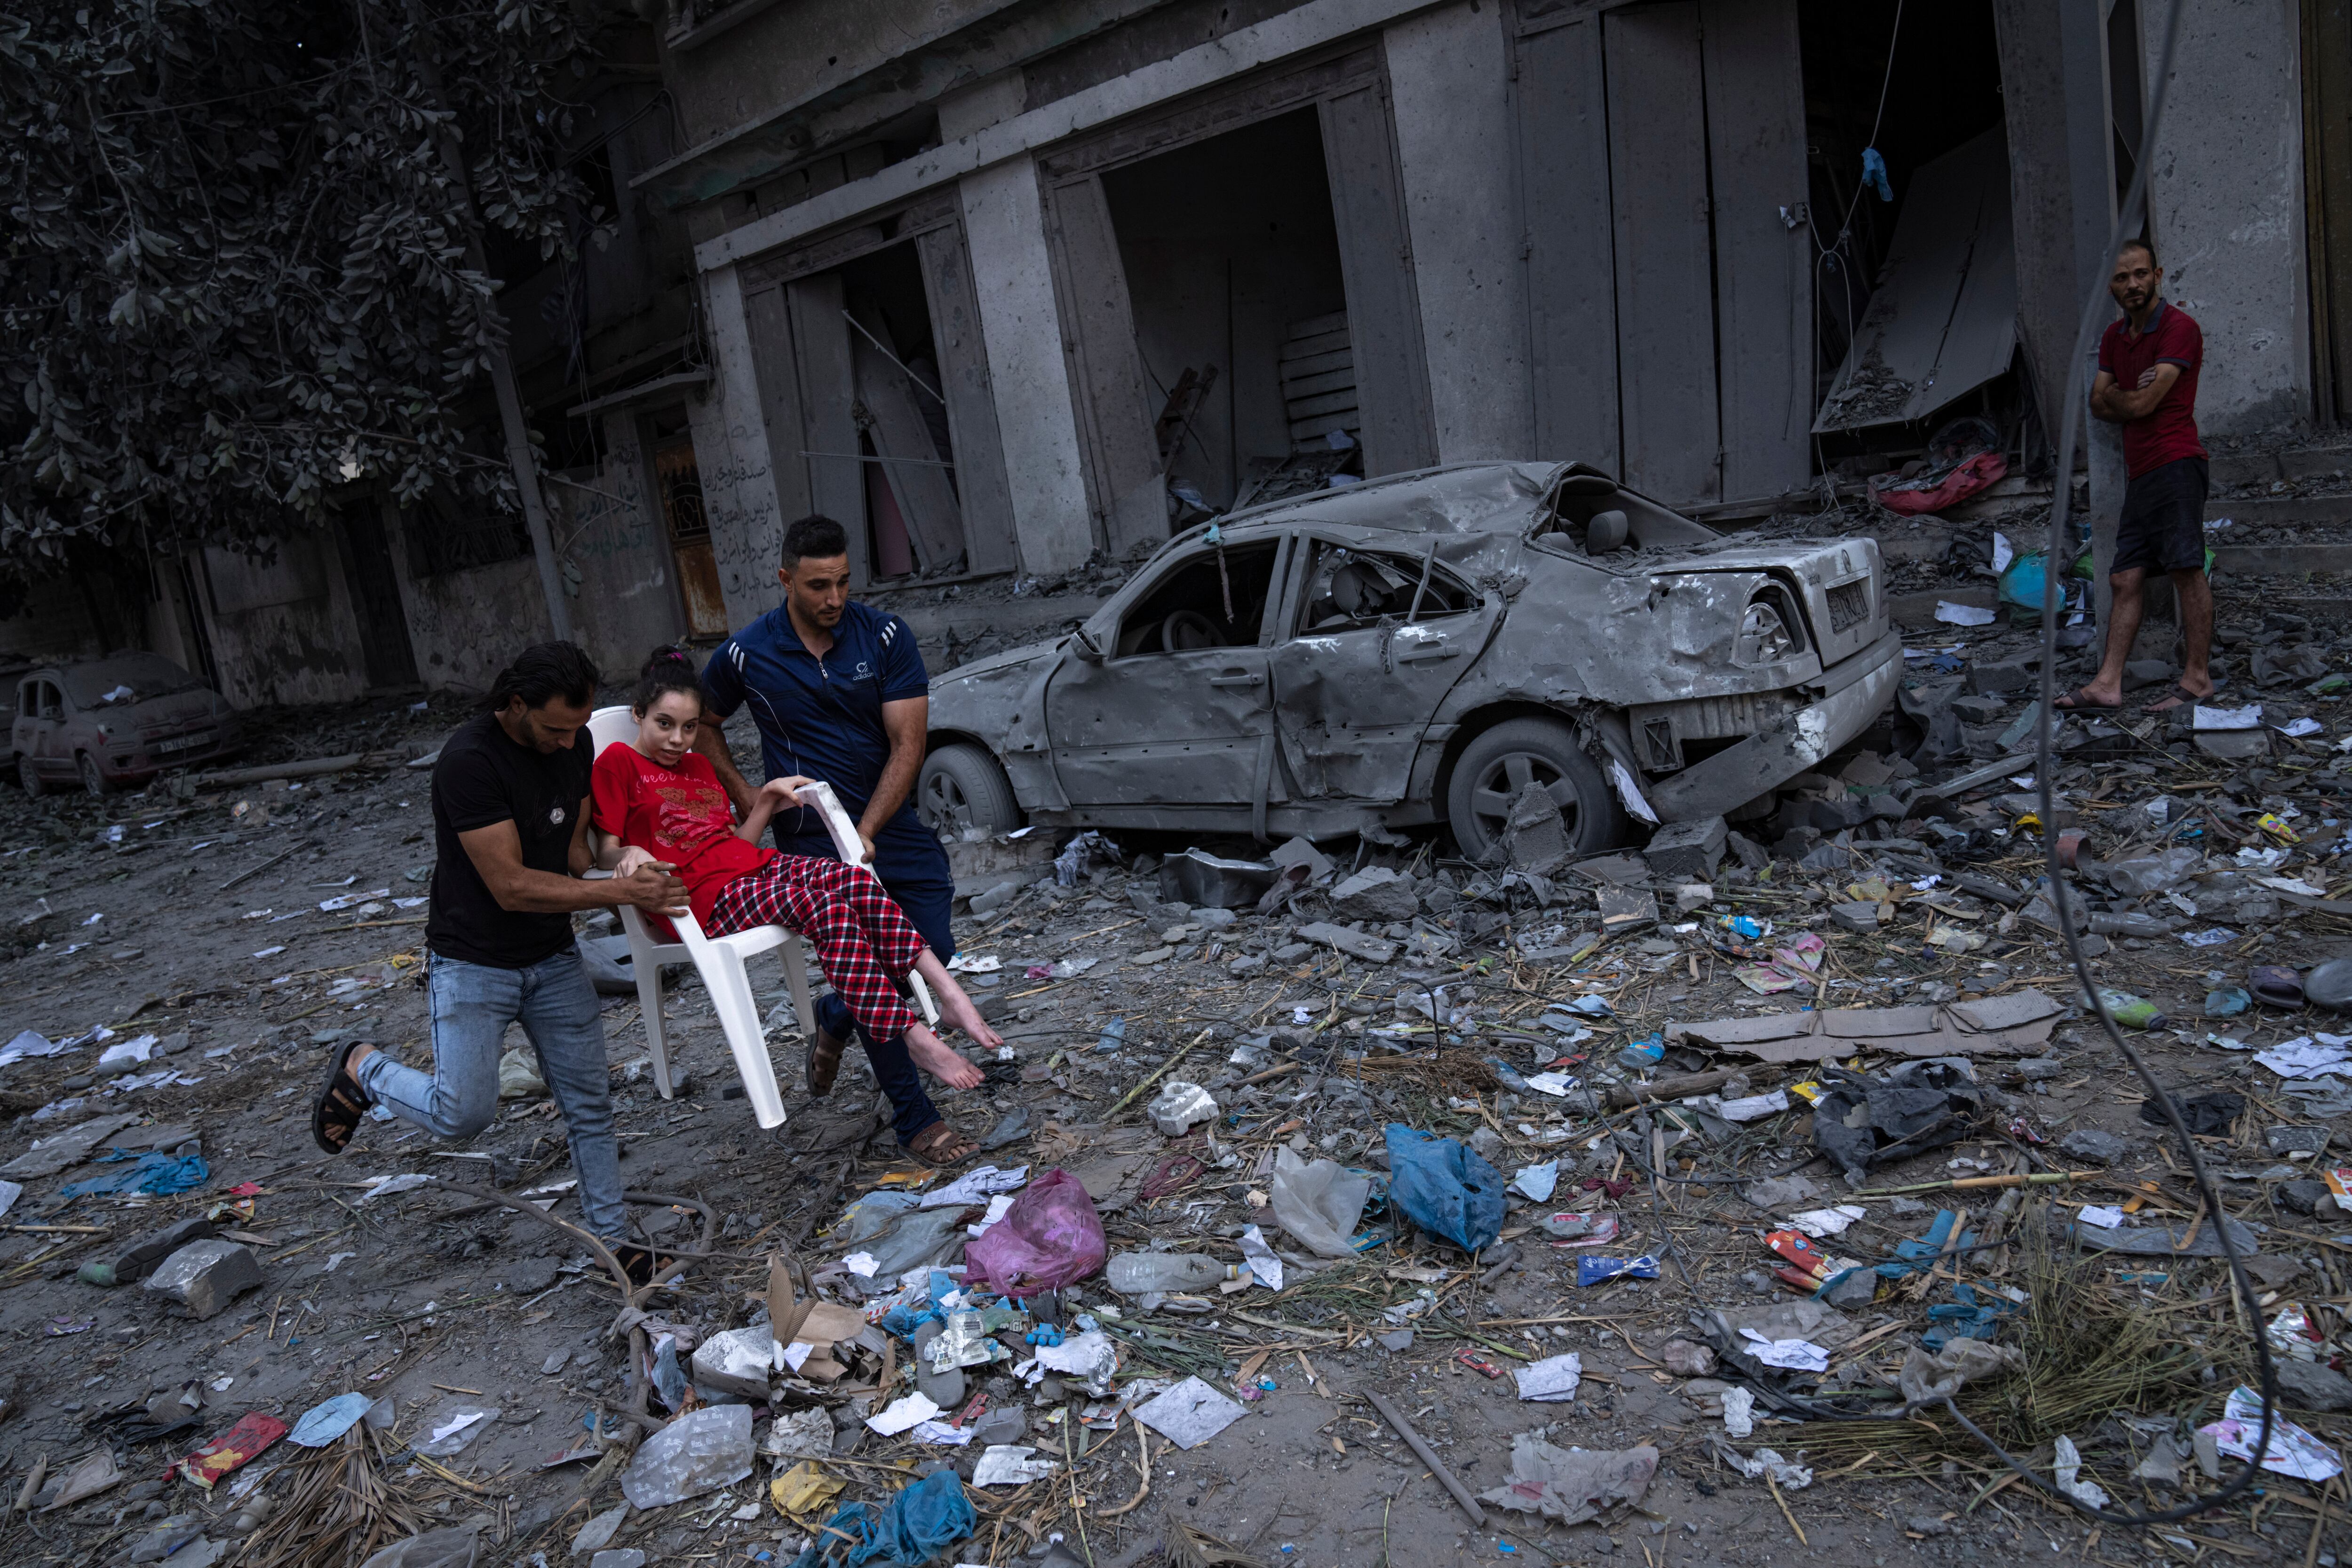
[[[776,552],[783,548],[783,515],[769,468],[767,414],[753,367],[750,324],[743,320],[743,282],[736,268],[703,273],[703,310],[710,320],[710,383],[687,397],[694,430],[694,468],[703,480],[703,512],[710,517],[710,555],[727,595],[727,623],[776,609]]]

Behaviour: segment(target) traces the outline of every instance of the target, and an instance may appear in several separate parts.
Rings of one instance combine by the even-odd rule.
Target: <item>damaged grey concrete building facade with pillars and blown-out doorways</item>
[[[1726,522],[1957,418],[2046,468],[2171,16],[666,5],[586,94],[604,242],[510,259],[503,294],[567,611],[614,672],[774,607],[804,512],[861,583],[946,583],[1465,458],[1583,458]],[[2206,329],[2201,423],[2336,425],[2352,0],[2178,5],[2147,233]],[[153,576],[151,639],[240,703],[480,686],[548,625],[520,524],[430,498]],[[89,642],[45,616],[0,644]]]

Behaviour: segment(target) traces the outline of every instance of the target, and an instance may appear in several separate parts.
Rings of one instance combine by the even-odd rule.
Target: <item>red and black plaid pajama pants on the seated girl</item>
[[[786,926],[816,943],[826,980],[870,1039],[894,1039],[922,1023],[894,985],[922,957],[922,933],[863,865],[776,856],[736,877],[710,905],[710,933],[753,926]]]

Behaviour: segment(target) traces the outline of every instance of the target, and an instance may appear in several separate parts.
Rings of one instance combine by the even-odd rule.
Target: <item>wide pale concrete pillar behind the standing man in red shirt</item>
[[[2150,96],[2161,16],[2143,24]],[[2197,425],[2211,435],[2312,416],[2298,45],[2296,0],[2180,0],[2147,209],[2164,294],[2204,329]]]

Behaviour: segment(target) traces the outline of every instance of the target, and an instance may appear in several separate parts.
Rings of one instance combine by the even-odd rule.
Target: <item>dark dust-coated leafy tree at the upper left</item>
[[[266,552],[386,489],[524,512],[553,581],[482,240],[572,244],[586,9],[0,16],[0,609],[106,562]],[[503,437],[470,437],[492,407]]]

